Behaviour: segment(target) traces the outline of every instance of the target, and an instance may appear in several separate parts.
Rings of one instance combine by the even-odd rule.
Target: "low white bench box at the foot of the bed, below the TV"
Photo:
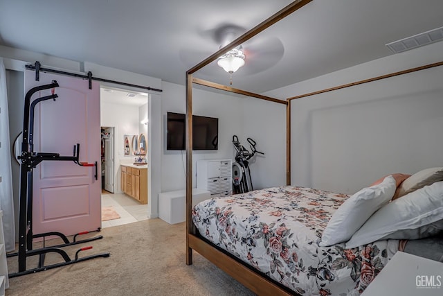
[[[192,189],[192,206],[210,198],[210,192]],[[159,217],[169,224],[186,221],[186,191],[169,191],[159,193]]]

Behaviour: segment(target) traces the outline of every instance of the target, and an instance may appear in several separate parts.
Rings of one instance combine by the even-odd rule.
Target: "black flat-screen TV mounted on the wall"
[[[186,149],[186,115],[168,112],[166,118],[166,149]],[[192,115],[192,149],[217,150],[219,119]]]

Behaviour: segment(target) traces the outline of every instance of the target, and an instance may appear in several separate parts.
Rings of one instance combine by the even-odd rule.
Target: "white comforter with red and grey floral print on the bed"
[[[280,186],[197,204],[202,236],[300,295],[359,295],[397,252],[399,241],[346,250],[319,247],[348,195]]]

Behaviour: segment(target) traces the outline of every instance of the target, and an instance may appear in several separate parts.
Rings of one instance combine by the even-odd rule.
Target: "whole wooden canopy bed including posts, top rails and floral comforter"
[[[219,56],[296,12],[310,1],[300,0],[290,3],[251,31],[244,33],[186,71],[186,264],[192,264],[192,251],[198,252],[258,295],[359,294],[395,252],[399,249],[404,250],[404,239],[417,239],[417,233],[404,236],[404,233],[395,232],[398,229],[386,230],[378,224],[394,225],[395,223],[390,223],[389,219],[398,218],[399,215],[395,214],[398,209],[401,211],[397,213],[409,210],[415,213],[405,206],[408,204],[406,198],[405,202],[389,202],[375,207],[370,212],[374,215],[365,217],[370,223],[363,221],[365,227],[358,225],[361,228],[355,234],[359,236],[356,236],[358,239],[354,239],[353,242],[359,244],[350,247],[347,246],[349,242],[343,241],[320,247],[320,238],[324,236],[329,220],[345,204],[345,200],[350,200],[352,197],[291,186],[291,102],[307,96],[333,92],[336,89],[439,67],[443,62],[354,81],[318,92],[293,96],[286,100],[219,85],[193,76],[195,72],[217,60]],[[195,175],[192,171],[192,87],[195,84],[260,98],[286,107],[286,186],[226,198],[213,198],[192,207],[192,176]],[[443,189],[438,190],[441,191],[433,192],[433,198],[440,197],[438,202],[441,204]],[[441,208],[443,209],[443,204]],[[267,215],[264,215],[264,212]],[[381,218],[378,217],[380,216],[378,213],[382,214]],[[434,217],[433,221],[422,219],[425,224],[414,227],[417,226],[417,229],[424,227],[424,232],[429,235],[435,230],[441,230],[438,227],[442,225],[426,228],[428,225],[433,225],[436,219],[443,219],[443,212],[435,215],[437,218]],[[420,219],[416,216],[410,220]],[[244,222],[249,224],[243,225]],[[373,229],[384,232],[375,231],[374,234],[371,232]],[[365,237],[367,233],[371,235]],[[370,241],[364,241],[368,238]],[[440,238],[437,238],[437,241],[441,242]],[[407,243],[406,246],[414,249],[414,244]],[[415,249],[419,250],[419,247]],[[266,257],[262,254],[266,254]]]

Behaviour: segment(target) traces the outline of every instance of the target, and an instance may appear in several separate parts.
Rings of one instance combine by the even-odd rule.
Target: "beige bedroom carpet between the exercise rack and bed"
[[[196,252],[194,263],[186,265],[185,223],[150,219],[105,228],[100,234],[101,240],[63,250],[73,258],[80,247],[92,245],[80,257],[110,252],[109,258],[12,278],[6,295],[253,295]],[[59,256],[46,257],[47,263],[60,262]],[[33,259],[28,259],[28,268],[35,268]],[[8,258],[8,269],[17,271],[17,257]]]

